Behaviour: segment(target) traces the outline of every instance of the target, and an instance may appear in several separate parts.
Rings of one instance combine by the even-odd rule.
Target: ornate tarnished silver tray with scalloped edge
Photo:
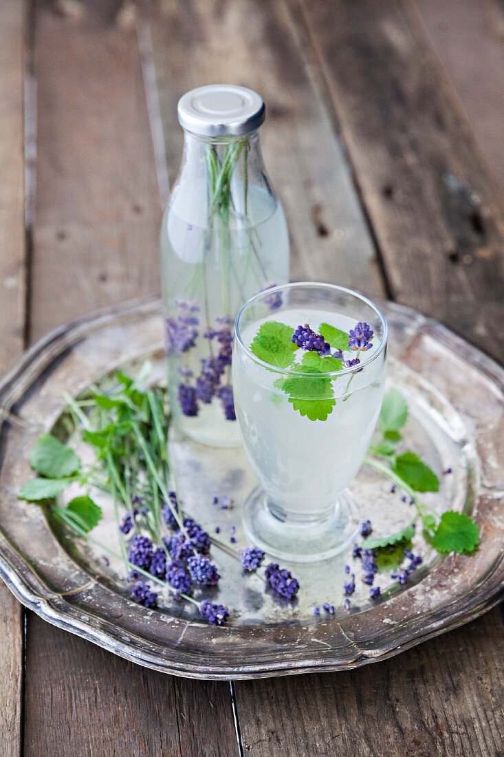
[[[52,332],[0,385],[0,574],[15,596],[45,620],[107,650],[191,678],[354,668],[490,609],[502,597],[504,578],[504,371],[437,322],[395,304],[381,307],[390,326],[390,384],[409,401],[409,444],[437,472],[453,469],[441,477],[440,493],[426,499],[439,510],[474,515],[481,527],[478,553],[441,558],[418,536],[415,551],[424,564],[412,582],[390,586],[373,604],[362,587],[346,614],[341,587],[348,556],[291,566],[301,590],[296,603],[285,605],[214,546],[223,575],[216,596],[232,609],[228,625],[209,626],[183,603],[167,602],[159,610],[132,603],[117,566],[59,531],[17,492],[32,475],[34,441],[61,424],[64,391],[79,395],[118,366],[134,371],[146,358],[154,378],[163,380],[160,303],[148,299]],[[219,524],[223,540],[235,525],[240,546],[240,502],[255,485],[241,450],[213,450],[174,436],[172,454],[185,510],[210,531]],[[353,489],[362,515],[378,531],[409,522],[407,504],[366,466]],[[216,509],[213,494],[232,495],[235,508]],[[98,525],[96,537],[116,538],[110,519]],[[335,614],[315,618],[313,606],[325,600],[336,606]]]

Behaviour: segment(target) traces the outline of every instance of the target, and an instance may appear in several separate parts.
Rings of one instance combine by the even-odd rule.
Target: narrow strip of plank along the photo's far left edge
[[[26,245],[23,155],[23,0],[0,5],[0,375],[24,345]],[[0,585],[0,733],[2,755],[17,757],[21,744],[23,609]]]

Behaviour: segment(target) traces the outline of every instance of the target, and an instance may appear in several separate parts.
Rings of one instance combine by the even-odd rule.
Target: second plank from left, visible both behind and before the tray
[[[132,6],[41,3],[31,338],[157,288],[160,202]],[[26,755],[234,755],[229,686],[154,674],[30,614]]]

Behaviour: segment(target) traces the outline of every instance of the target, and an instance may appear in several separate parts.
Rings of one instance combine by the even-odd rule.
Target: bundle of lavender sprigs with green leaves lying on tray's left
[[[209,556],[210,535],[185,516],[170,487],[173,471],[168,455],[166,390],[142,390],[141,382],[142,378],[135,382],[118,372],[116,385],[107,394],[97,390],[82,400],[66,397],[72,417],[69,430],[94,448],[95,462],[85,466],[70,447],[45,434],[30,454],[38,478],[23,486],[20,498],[45,506],[51,516],[106,555],[121,559],[129,596],[136,603],[157,607],[155,584],[175,600],[198,606],[211,624],[221,625],[229,618],[228,609],[208,597],[194,598],[194,593],[201,595],[207,587],[216,586],[220,575]],[[56,498],[70,484],[78,484],[85,494],[62,507]],[[114,503],[120,555],[90,534],[102,517],[92,499],[93,490],[107,492]],[[256,572],[264,559],[264,553],[254,547],[236,551],[235,556],[247,572]],[[294,599],[299,584],[288,571],[272,563],[265,577],[269,588]]]

